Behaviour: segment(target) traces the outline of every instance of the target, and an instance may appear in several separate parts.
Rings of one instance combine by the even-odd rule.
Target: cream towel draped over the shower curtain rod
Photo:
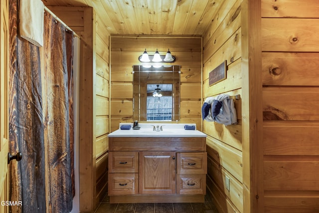
[[[36,46],[43,46],[44,4],[41,0],[20,0],[20,36]]]

